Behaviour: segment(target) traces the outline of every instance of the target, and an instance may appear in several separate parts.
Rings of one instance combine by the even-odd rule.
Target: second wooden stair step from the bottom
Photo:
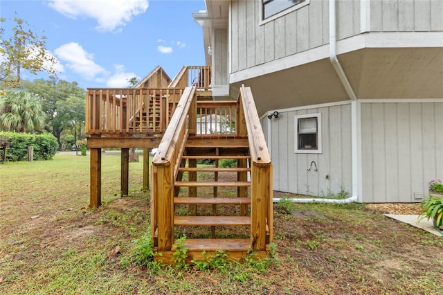
[[[174,216],[174,225],[183,226],[248,226],[249,216]]]

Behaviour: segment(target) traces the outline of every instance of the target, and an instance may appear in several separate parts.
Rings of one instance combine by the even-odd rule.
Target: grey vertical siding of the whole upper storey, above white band
[[[262,23],[261,0],[230,6],[231,73],[329,44],[329,1]],[[443,30],[443,0],[337,0],[337,39],[361,33],[362,10],[372,32]]]

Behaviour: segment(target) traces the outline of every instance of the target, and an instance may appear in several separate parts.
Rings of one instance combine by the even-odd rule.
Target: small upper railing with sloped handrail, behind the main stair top
[[[195,86],[198,91],[209,91],[212,89],[211,68],[210,66],[183,66],[169,86]]]

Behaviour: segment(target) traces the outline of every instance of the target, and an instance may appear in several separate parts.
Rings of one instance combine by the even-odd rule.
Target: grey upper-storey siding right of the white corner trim
[[[443,0],[371,0],[373,32],[443,30]]]

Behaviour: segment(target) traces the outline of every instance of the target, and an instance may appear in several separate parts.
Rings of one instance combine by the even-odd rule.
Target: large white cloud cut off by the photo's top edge
[[[49,0],[49,6],[66,17],[96,19],[102,32],[120,31],[132,17],[143,14],[147,0]]]

